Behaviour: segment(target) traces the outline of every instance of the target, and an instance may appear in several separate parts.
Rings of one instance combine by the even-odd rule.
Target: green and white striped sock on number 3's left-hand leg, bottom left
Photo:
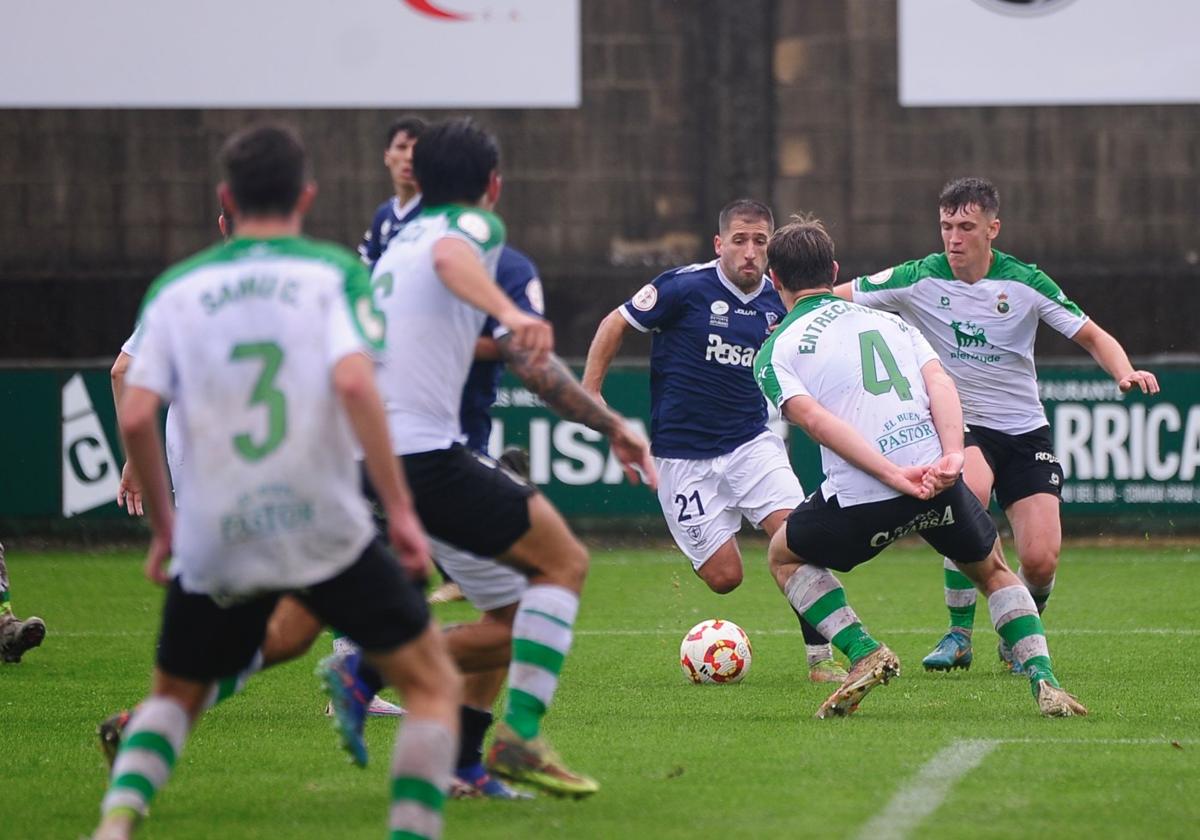
[[[121,736],[112,781],[101,812],[126,809],[145,814],[175,767],[191,722],[187,712],[169,697],[150,697],[138,706]]]

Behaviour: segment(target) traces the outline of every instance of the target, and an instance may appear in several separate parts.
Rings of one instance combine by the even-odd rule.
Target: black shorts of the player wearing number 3
[[[284,594],[289,593],[222,607],[208,595],[185,592],[175,577],[162,611],[158,667],[199,683],[239,673],[262,647],[271,611]],[[290,594],[365,650],[398,648],[420,636],[430,622],[424,595],[379,540],[372,540],[344,571]]]

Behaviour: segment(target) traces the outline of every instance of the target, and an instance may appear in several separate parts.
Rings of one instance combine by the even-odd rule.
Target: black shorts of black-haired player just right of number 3
[[[529,530],[536,488],[480,452],[450,449],[402,456],[416,515],[431,536],[480,557],[499,557]],[[374,499],[368,490],[367,497]]]

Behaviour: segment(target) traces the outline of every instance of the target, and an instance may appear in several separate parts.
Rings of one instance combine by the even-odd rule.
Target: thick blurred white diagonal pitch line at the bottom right
[[[858,830],[858,838],[904,840],[941,808],[954,784],[979,767],[997,746],[998,740],[955,740],[938,750],[895,792],[887,806]]]

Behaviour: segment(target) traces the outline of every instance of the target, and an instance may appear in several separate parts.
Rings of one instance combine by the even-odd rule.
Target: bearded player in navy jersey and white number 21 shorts
[[[770,208],[727,204],[718,220],[716,259],[672,269],[600,322],[583,388],[600,396],[626,332],[652,332],[650,448],[659,503],[676,545],[716,593],[742,583],[737,533],[743,516],[768,535],[804,500],[782,439],[767,428],[754,356],[782,320],[784,304],[764,276]],[[828,640],[800,619],[809,678],[841,682]]]

